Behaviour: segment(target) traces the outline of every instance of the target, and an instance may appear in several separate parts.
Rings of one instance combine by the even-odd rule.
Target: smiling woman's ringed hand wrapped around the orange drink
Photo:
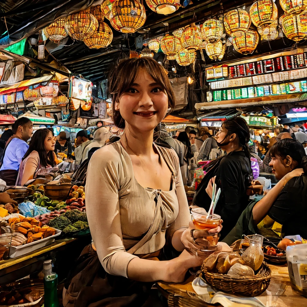
[[[191,221],[189,227],[181,235],[181,242],[189,251],[201,253],[200,250],[207,249],[209,246],[206,237],[219,233],[223,228],[222,223],[223,220],[220,220],[220,224],[213,229],[195,229],[195,225]],[[194,237],[191,236],[191,232]]]

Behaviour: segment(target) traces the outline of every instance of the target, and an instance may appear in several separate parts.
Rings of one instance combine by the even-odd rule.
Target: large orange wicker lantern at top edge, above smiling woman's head
[[[138,0],[115,0],[112,15],[122,33],[134,33],[146,21],[145,8]]]

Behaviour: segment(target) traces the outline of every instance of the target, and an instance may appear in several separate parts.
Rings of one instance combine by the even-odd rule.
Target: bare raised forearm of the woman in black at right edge
[[[303,172],[303,169],[294,169],[292,172],[286,174],[261,200],[255,204],[253,208],[253,218],[256,225],[267,215],[286,183],[291,178],[300,176]]]

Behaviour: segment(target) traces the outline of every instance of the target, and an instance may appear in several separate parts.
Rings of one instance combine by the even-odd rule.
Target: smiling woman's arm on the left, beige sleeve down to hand
[[[202,259],[184,251],[169,261],[140,259],[123,246],[119,208],[120,160],[113,147],[104,146],[91,157],[87,169],[87,219],[99,260],[107,273],[137,281],[183,281],[188,268]]]

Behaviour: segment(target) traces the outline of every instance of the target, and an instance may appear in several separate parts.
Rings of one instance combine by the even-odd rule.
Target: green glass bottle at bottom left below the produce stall
[[[44,261],[43,266],[44,277],[44,307],[59,307],[59,299],[57,297],[57,274],[52,272],[51,260]]]

